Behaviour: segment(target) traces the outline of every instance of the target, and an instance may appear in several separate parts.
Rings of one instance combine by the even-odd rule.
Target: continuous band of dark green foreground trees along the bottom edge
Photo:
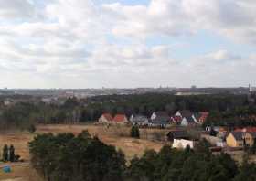
[[[37,135],[29,144],[31,164],[51,181],[255,181],[256,165],[239,166],[228,154],[213,155],[204,141],[195,150],[164,146],[126,163],[122,151],[88,132]],[[49,164],[50,163],[50,164]]]

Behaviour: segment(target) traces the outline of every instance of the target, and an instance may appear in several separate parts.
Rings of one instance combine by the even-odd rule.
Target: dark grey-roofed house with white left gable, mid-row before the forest
[[[171,118],[167,112],[153,112],[149,125],[153,127],[167,127]]]

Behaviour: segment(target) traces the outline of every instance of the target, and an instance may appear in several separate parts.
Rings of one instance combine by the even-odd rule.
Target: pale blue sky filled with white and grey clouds
[[[0,0],[0,88],[256,85],[255,0]]]

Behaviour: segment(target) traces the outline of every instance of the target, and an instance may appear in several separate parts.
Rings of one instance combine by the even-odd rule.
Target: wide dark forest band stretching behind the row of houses
[[[256,125],[256,105],[247,95],[197,95],[175,96],[148,93],[143,95],[97,96],[87,100],[69,98],[63,105],[42,102],[21,102],[12,106],[0,106],[0,129],[27,128],[33,123],[74,123],[97,121],[103,112],[143,114],[150,116],[156,111],[173,115],[177,110],[210,112],[205,125],[244,126]]]

